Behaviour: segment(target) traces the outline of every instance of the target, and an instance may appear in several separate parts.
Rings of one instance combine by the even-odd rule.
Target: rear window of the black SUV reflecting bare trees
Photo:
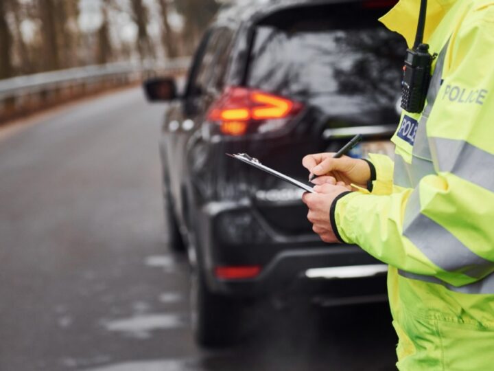
[[[321,109],[331,102],[332,111],[395,106],[406,46],[377,21],[387,10],[352,3],[273,14],[257,25],[248,85]]]

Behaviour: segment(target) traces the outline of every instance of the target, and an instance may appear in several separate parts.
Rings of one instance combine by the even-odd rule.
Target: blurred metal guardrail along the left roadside
[[[130,85],[148,76],[184,74],[190,60],[91,65],[0,80],[0,121],[93,91]]]

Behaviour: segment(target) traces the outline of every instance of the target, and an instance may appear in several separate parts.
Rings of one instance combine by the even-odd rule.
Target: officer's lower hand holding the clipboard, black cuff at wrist
[[[326,243],[336,243],[338,238],[333,232],[331,221],[329,220],[329,209],[333,200],[343,192],[347,192],[349,188],[342,182],[332,185],[326,183],[322,186],[315,186],[314,190],[317,193],[306,192],[302,201],[309,207],[307,219],[313,224],[312,230],[316,232]]]

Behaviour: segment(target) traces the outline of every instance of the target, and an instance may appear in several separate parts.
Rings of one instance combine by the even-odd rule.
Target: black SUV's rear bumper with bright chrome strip
[[[335,297],[386,293],[386,266],[355,245],[329,245],[315,234],[286,236],[262,222],[239,228],[243,233],[239,241],[218,236],[218,224],[235,218],[235,213],[250,213],[250,210],[248,201],[239,201],[215,203],[199,212],[196,232],[200,265],[211,291],[243,297],[290,289],[330,295],[334,292]],[[255,230],[245,234],[248,228]],[[244,280],[223,280],[213,273],[215,267],[245,265],[259,265],[261,273]],[[355,288],[342,290],[342,286],[352,285]]]

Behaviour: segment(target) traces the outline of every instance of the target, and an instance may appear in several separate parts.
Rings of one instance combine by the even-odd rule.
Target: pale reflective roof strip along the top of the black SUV
[[[305,5],[351,3],[358,0],[227,0],[218,12],[217,25],[231,25],[239,22],[256,23],[279,10],[298,8]]]

